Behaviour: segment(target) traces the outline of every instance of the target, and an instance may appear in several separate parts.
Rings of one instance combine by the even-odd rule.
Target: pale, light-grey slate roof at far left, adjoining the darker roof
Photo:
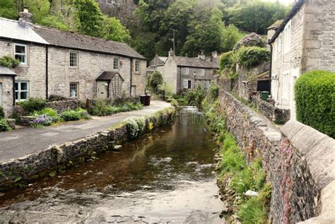
[[[20,21],[20,23],[24,22]],[[31,24],[25,23],[25,25],[20,25],[20,23],[16,20],[0,18],[0,37],[6,37],[15,40],[24,40],[44,45],[48,44],[46,40],[44,40],[42,37],[40,37],[40,35],[34,32]]]

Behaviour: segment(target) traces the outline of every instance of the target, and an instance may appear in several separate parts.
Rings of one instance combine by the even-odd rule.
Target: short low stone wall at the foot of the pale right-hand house
[[[290,119],[290,110],[279,109],[270,102],[259,99],[259,95],[252,96],[252,104],[261,114],[276,124],[285,124]]]

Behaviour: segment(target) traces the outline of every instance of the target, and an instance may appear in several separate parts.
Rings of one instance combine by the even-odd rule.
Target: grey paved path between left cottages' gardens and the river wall
[[[153,101],[150,106],[144,107],[143,110],[122,112],[108,117],[93,117],[90,120],[67,122],[38,129],[24,128],[0,132],[0,163],[35,153],[53,144],[74,141],[98,131],[105,131],[127,117],[141,117],[167,107],[170,107],[170,103]]]

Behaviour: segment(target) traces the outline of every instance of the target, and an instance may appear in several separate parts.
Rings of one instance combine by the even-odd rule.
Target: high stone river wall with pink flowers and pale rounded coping
[[[221,90],[219,99],[227,129],[247,160],[261,155],[266,180],[272,187],[269,221],[334,221],[334,139],[294,121],[279,131],[230,93]]]

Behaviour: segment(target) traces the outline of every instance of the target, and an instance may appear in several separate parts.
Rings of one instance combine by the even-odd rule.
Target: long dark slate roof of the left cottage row
[[[79,35],[76,33],[65,32],[52,28],[43,28],[40,26],[35,26],[33,29],[38,35],[43,37],[43,39],[47,40],[50,45],[68,47],[72,49],[83,49],[107,54],[118,54],[137,59],[146,59],[141,54],[136,52],[136,50],[132,49],[123,42],[105,40],[87,35]]]

